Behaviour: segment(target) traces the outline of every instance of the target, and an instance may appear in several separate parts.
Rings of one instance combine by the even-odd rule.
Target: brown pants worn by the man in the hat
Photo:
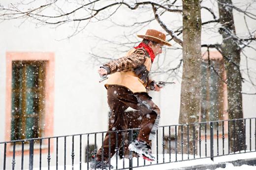
[[[127,114],[124,113],[124,111],[128,107],[131,107],[132,109],[138,110],[142,113],[142,117],[139,117],[141,118],[141,129],[137,139],[150,144],[155,138],[160,119],[160,109],[151,100],[152,98],[147,93],[132,93],[126,87],[109,85],[107,89],[107,99],[112,113],[108,131],[126,130],[128,128],[128,125],[132,122],[128,122]],[[115,154],[116,146],[119,148],[122,144],[122,133],[118,133],[117,145],[116,133],[107,133],[103,141],[103,146],[101,146],[97,152],[97,161],[101,161],[102,147],[103,158],[105,161],[108,160],[109,138],[111,157]]]

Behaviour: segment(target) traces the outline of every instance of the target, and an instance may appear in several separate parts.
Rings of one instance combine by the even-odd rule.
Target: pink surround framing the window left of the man
[[[11,106],[12,106],[12,62],[45,61],[45,114],[42,124],[45,126],[42,137],[53,136],[54,125],[54,74],[55,54],[53,52],[6,52],[6,94],[5,94],[5,141],[11,141]],[[45,141],[45,140],[44,140]],[[45,141],[46,142],[46,141]],[[16,143],[19,144],[19,143]],[[43,143],[44,144],[44,143]],[[53,143],[52,143],[53,144]],[[51,144],[51,145],[52,145]],[[12,156],[11,144],[7,144],[6,156]],[[51,147],[52,151],[53,147]],[[24,154],[28,154],[25,151]]]

